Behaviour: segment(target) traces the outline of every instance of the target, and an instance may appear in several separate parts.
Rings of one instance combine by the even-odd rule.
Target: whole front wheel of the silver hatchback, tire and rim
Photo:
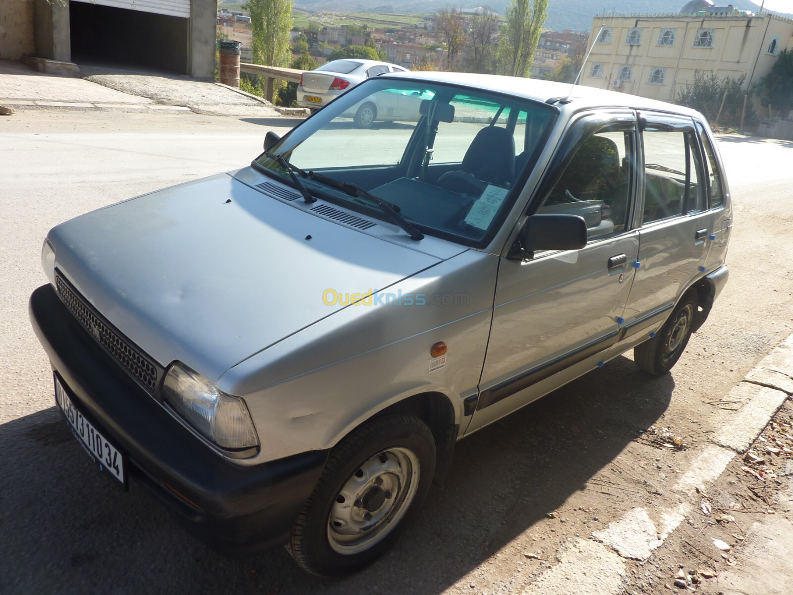
[[[416,514],[434,473],[435,440],[418,417],[394,413],[362,425],[331,451],[292,528],[289,554],[318,576],[374,562]]]

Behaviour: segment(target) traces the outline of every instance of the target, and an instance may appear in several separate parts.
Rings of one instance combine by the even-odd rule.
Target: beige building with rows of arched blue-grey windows
[[[757,83],[780,51],[793,47],[793,20],[736,12],[596,16],[581,83],[666,102],[698,70]]]

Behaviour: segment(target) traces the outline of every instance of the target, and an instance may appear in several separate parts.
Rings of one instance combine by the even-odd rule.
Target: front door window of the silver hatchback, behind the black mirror
[[[633,132],[596,132],[573,155],[538,213],[580,215],[588,238],[626,230]]]

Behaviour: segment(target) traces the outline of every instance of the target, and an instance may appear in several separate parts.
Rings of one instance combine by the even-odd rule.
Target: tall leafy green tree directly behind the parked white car
[[[289,30],[292,29],[293,0],[248,0],[251,13],[251,50],[255,64],[289,64]]]

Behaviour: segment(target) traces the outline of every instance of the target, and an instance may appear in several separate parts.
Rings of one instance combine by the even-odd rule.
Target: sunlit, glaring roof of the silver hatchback
[[[569,102],[566,106],[565,104],[560,105],[565,111],[567,109],[578,111],[581,108],[589,107],[624,107],[680,113],[704,120],[702,114],[695,109],[676,106],[672,103],[639,97],[629,93],[619,93],[580,84],[573,87],[571,83],[554,83],[553,81],[524,79],[517,76],[477,75],[465,72],[394,72],[388,75],[380,75],[377,78],[416,79],[434,83],[456,84],[477,89],[488,89],[496,93],[514,95],[520,98],[534,99],[538,102],[546,102],[550,98],[567,98],[570,96],[573,99],[572,102]]]

